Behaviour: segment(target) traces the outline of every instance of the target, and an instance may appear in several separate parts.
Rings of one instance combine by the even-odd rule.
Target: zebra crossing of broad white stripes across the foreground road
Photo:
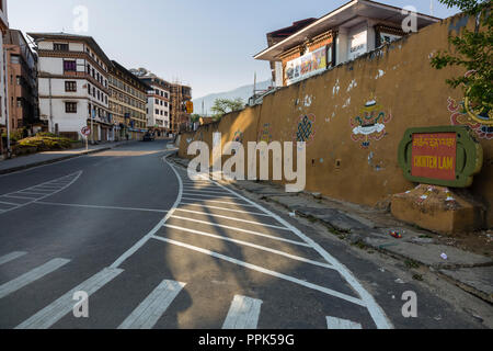
[[[11,263],[25,258],[28,253],[15,251],[0,257],[0,265]],[[21,288],[28,288],[28,285],[42,278],[49,279],[49,274],[71,264],[67,259],[53,259],[30,272],[0,286],[0,302]],[[71,288],[60,297],[42,306],[41,309],[20,322],[14,329],[49,329],[54,328],[67,316],[76,318],[73,310],[78,305],[74,296],[79,292],[84,292],[89,297],[96,295],[103,287],[111,287],[112,282],[119,275],[125,274],[123,269],[105,268],[95,273],[84,282]],[[167,315],[176,297],[183,293],[187,283],[174,280],[162,280],[147,296],[141,296],[141,302],[118,326],[118,329],[152,329],[158,321]],[[236,294],[231,298],[228,313],[222,316],[222,329],[257,329],[262,320],[262,306],[264,302],[257,297]],[[91,317],[89,308],[89,318]],[[111,313],[108,310],[108,313]],[[351,320],[326,317],[330,329],[360,329],[362,326]]]

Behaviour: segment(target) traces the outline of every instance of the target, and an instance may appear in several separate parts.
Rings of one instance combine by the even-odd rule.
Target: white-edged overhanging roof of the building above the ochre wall
[[[305,43],[307,39],[317,36],[323,32],[336,29],[341,25],[349,26],[352,20],[357,16],[365,16],[387,22],[401,23],[408,15],[402,14],[402,9],[389,4],[370,1],[370,0],[352,0],[346,4],[333,10],[332,12],[321,16],[313,23],[305,26],[298,32],[291,34],[284,41],[264,49],[254,56],[255,59],[278,60],[277,56],[282,53]],[[439,22],[442,19],[416,13],[417,27],[422,29],[426,25]],[[353,23],[355,24],[355,23]]]

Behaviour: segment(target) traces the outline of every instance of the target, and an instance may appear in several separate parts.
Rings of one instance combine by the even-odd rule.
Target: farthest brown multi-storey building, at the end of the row
[[[171,133],[176,134],[191,128],[191,114],[186,111],[186,102],[192,101],[192,88],[179,82],[171,84]]]

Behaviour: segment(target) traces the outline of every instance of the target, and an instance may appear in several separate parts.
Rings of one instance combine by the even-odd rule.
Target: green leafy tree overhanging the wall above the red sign
[[[447,79],[454,89],[461,87],[466,109],[481,115],[484,124],[493,125],[493,16],[491,0],[438,0],[448,8],[458,7],[465,14],[475,16],[474,31],[463,30],[462,35],[449,37],[456,53],[440,50],[432,59],[432,66],[465,67],[465,76]]]

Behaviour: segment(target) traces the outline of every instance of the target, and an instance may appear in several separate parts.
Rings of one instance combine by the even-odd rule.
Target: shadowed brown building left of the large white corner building
[[[10,127],[11,131],[23,128],[32,135],[42,127],[37,111],[37,57],[18,30],[7,31],[3,46],[7,58]]]

